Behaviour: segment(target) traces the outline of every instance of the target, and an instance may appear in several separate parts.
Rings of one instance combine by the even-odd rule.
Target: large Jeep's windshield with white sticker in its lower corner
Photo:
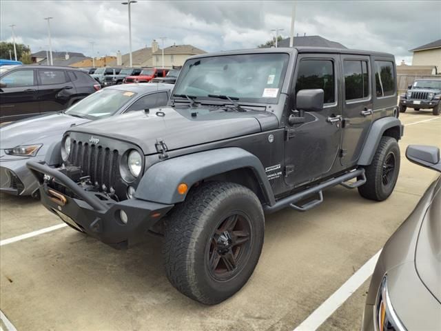
[[[180,74],[175,94],[207,99],[227,95],[240,101],[276,103],[289,55],[240,54],[189,60]]]

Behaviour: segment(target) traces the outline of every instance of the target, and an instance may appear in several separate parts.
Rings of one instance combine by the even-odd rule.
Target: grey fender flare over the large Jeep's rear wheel
[[[369,134],[367,135],[367,139],[365,141],[365,145],[363,146],[360,154],[360,158],[358,159],[358,165],[371,164],[373,155],[376,153],[378,144],[380,143],[380,139],[383,136],[384,131],[390,128],[399,128],[400,137],[398,139],[402,137],[404,127],[402,126],[401,121],[396,117],[382,117],[381,119],[378,119],[372,123],[372,126],[369,129]]]

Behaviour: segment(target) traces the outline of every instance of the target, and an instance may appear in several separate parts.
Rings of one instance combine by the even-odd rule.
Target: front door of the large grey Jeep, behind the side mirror
[[[305,112],[303,123],[287,124],[285,183],[295,187],[325,177],[338,158],[341,139],[341,106],[338,86],[339,55],[300,54],[291,91],[291,110],[296,110],[299,90],[322,89],[324,108]],[[289,114],[287,114],[289,116]]]

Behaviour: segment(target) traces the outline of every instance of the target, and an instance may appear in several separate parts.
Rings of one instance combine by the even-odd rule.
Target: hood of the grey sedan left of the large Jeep
[[[90,119],[80,119],[61,112],[51,112],[15,121],[0,128],[0,148],[48,143],[53,139],[61,140],[66,130],[88,121]]]

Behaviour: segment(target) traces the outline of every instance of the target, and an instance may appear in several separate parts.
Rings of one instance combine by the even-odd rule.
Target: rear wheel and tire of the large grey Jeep
[[[396,139],[381,137],[372,163],[365,167],[366,183],[358,193],[366,199],[383,201],[391,195],[400,172],[400,148]]]

